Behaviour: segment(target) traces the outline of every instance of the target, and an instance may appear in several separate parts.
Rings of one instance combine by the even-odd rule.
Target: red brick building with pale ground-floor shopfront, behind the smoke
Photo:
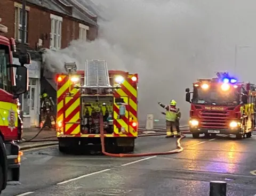
[[[19,64],[21,43],[22,1],[1,0],[0,18],[8,27],[6,37],[13,37],[17,52],[13,63]],[[59,50],[74,39],[94,40],[98,35],[97,15],[77,0],[27,0],[25,45],[31,55],[29,91],[22,96],[25,127],[39,124],[39,95],[44,78],[41,74],[42,48]]]

